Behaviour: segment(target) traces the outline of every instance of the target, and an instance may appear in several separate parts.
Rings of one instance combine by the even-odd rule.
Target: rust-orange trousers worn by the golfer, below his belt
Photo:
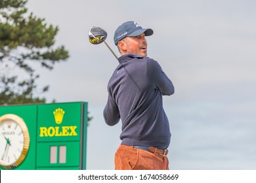
[[[116,170],[169,170],[167,156],[121,144],[115,155]]]

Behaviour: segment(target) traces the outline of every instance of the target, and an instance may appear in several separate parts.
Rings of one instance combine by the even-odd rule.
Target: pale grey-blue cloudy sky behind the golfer
[[[256,1],[28,0],[29,12],[58,26],[55,46],[70,58],[53,71],[37,67],[38,87],[51,103],[86,101],[93,116],[87,169],[114,169],[121,122],[104,123],[106,86],[117,60],[104,44],[89,43],[91,27],[113,37],[123,22],[152,28],[148,56],[171,78],[163,97],[171,126],[171,169],[256,169]]]

